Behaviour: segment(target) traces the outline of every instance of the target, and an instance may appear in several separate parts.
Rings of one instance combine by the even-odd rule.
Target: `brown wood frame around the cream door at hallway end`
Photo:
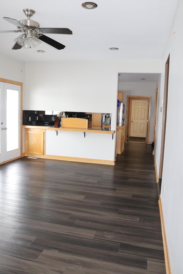
[[[147,144],[152,143],[152,142],[149,142],[150,119],[151,119],[151,98],[152,98],[152,96],[127,95],[127,97],[126,97],[126,125],[127,125],[127,128],[126,128],[126,132],[125,132],[125,142],[127,142],[127,135],[129,132],[129,127],[130,127],[132,100],[148,100],[149,107],[148,107],[148,124],[147,124],[146,143]]]

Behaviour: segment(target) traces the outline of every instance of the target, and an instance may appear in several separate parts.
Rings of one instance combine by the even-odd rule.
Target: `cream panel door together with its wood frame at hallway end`
[[[151,96],[127,96],[125,142],[150,144],[150,115]]]

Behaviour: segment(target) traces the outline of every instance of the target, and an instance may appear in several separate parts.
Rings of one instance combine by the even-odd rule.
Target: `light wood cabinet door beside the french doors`
[[[25,128],[25,156],[45,154],[45,130]]]

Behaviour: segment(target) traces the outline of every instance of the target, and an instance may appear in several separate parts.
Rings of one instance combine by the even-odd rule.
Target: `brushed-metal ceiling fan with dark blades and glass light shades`
[[[64,49],[65,46],[61,43],[45,36],[43,33],[56,33],[56,34],[72,34],[72,31],[67,28],[40,28],[39,23],[30,20],[35,11],[33,9],[23,9],[23,12],[27,16],[27,19],[17,21],[9,17],[3,17],[6,21],[17,26],[15,31],[0,31],[3,32],[14,32],[22,33],[19,37],[15,38],[15,45],[12,49],[21,49],[22,47],[31,48],[40,45],[41,41],[49,44],[56,49]],[[40,41],[41,40],[41,41]]]

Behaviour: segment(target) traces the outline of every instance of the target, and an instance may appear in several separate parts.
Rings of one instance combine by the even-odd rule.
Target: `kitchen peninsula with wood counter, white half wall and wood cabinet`
[[[114,159],[108,159],[108,147],[111,147],[108,144],[115,146],[113,136],[116,130],[88,128],[88,121],[81,118],[63,118],[63,121],[58,128],[53,125],[23,125],[25,156],[115,164],[115,155]]]

